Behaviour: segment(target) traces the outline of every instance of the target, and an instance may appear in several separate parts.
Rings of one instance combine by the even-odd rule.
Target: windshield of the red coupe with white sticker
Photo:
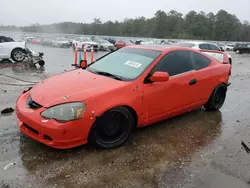
[[[122,48],[89,66],[87,70],[108,72],[124,80],[136,79],[161,54],[161,51]]]

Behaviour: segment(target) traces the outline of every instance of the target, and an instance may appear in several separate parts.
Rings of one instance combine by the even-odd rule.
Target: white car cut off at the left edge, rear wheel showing
[[[26,53],[25,42],[17,42],[10,37],[0,36],[0,59],[22,62]]]

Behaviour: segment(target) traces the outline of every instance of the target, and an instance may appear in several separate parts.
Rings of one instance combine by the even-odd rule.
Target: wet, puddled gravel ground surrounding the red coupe
[[[72,69],[71,49],[31,47],[45,53],[46,66],[0,65],[0,110],[14,108],[29,85]],[[0,116],[0,188],[250,187],[250,155],[241,146],[250,146],[250,56],[232,56],[232,85],[219,112],[201,109],[138,129],[115,150],[55,150],[22,135],[15,113]]]

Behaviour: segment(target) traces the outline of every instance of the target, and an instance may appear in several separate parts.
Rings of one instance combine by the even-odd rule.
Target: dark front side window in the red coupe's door
[[[194,70],[189,51],[174,51],[164,56],[153,68],[153,72],[168,72],[169,76]]]

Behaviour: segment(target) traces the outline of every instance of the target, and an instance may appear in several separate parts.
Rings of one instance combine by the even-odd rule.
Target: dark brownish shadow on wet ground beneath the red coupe
[[[76,168],[84,166],[86,170],[86,165],[105,166],[117,160],[127,161],[132,170],[143,170],[160,161],[175,161],[194,154],[220,136],[221,125],[221,112],[201,109],[136,129],[125,145],[113,150],[97,150],[90,145],[57,150],[22,135],[19,156],[28,171],[72,160],[77,163]],[[143,157],[139,167],[136,166],[138,157]]]

